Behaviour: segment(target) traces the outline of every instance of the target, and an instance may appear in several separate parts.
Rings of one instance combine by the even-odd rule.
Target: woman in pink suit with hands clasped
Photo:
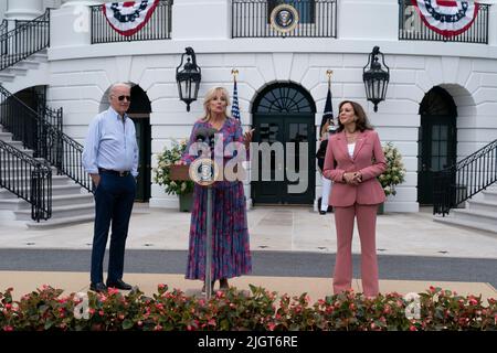
[[[385,196],[377,176],[385,167],[380,139],[362,107],[350,100],[340,103],[339,127],[329,140],[322,173],[334,182],[329,204],[335,208],[337,228],[335,293],[351,288],[355,217],[361,240],[362,289],[368,297],[379,293],[377,208]]]

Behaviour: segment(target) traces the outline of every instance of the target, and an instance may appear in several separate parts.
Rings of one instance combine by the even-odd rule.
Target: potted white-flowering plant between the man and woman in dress
[[[154,169],[154,181],[163,186],[167,194],[175,194],[179,196],[180,212],[190,212],[193,202],[193,181],[178,181],[170,179],[171,167],[181,159],[181,154],[187,149],[187,141],[172,141],[172,147],[163,149],[162,153],[158,156],[157,168]]]

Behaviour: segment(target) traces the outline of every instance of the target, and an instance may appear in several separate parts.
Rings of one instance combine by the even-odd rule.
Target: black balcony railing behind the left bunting
[[[137,33],[126,36],[116,32],[107,22],[103,6],[91,7],[92,44],[114,42],[136,42],[171,39],[172,1],[161,0],[150,19]]]

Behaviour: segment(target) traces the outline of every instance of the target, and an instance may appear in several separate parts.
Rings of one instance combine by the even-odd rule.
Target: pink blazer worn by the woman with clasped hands
[[[374,162],[372,159],[374,158]],[[380,138],[374,130],[360,132],[350,158],[347,149],[347,138],[345,131],[330,137],[326,150],[325,170],[322,174],[334,181],[329,204],[345,207],[353,203],[372,205],[382,203],[385,200],[383,189],[377,176],[387,168],[383,149]],[[343,182],[345,172],[362,173],[362,182],[355,186]]]

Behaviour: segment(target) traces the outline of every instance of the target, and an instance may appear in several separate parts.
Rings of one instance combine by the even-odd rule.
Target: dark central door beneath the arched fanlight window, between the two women
[[[257,168],[256,181],[252,182],[254,204],[311,204],[315,197],[316,172],[314,116],[255,115],[253,126],[253,141],[267,142],[273,147],[271,162],[267,163],[271,180],[264,180],[262,152],[258,153],[258,165],[254,165]],[[293,143],[294,149],[287,143]],[[307,162],[304,165],[299,164],[302,158]],[[290,181],[290,172],[298,174],[298,179]],[[298,184],[304,190],[292,191],[292,185],[296,188]]]

